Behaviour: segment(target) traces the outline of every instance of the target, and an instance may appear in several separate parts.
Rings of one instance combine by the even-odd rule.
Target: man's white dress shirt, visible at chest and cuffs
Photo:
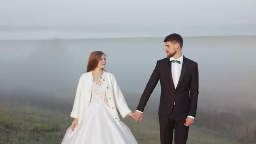
[[[180,61],[181,64],[178,63],[172,63],[172,80],[174,83],[174,87],[176,88],[179,82],[179,77],[181,76],[181,70],[182,70],[182,64],[183,64],[183,55],[181,57],[179,57],[178,59],[175,59],[174,57],[170,58],[170,61],[172,60],[177,60]],[[174,105],[175,105],[175,101],[174,101]],[[143,113],[142,111],[136,110],[138,112]],[[195,119],[195,117],[193,116],[188,116],[190,118]]]

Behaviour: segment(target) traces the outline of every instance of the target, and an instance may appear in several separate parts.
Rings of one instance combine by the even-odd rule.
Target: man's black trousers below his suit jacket
[[[178,117],[173,108],[170,116],[159,116],[161,144],[171,144],[174,130],[174,143],[185,144],[188,139],[189,127],[184,125],[185,118]]]

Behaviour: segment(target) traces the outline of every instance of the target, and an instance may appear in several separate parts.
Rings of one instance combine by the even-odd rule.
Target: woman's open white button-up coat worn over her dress
[[[94,83],[93,80],[94,77],[92,77],[91,71],[80,76],[71,112],[71,117],[78,118],[78,124],[84,121],[86,110],[90,105],[91,89]],[[126,104],[124,95],[120,91],[114,75],[103,71],[102,85],[104,85],[106,89],[106,98],[110,108],[110,113],[114,121],[120,121],[117,110],[123,118],[125,118],[131,110]]]

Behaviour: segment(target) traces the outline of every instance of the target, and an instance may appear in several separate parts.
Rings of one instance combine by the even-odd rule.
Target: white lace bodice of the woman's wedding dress
[[[91,103],[106,103],[106,92],[102,84],[94,82],[91,89]]]

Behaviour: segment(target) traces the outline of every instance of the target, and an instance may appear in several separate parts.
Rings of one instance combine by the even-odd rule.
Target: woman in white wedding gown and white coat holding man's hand
[[[113,74],[104,70],[106,57],[101,51],[90,54],[87,73],[78,82],[71,117],[71,126],[62,144],[133,144],[131,130],[120,121],[133,117]],[[134,117],[133,117],[134,118]]]

